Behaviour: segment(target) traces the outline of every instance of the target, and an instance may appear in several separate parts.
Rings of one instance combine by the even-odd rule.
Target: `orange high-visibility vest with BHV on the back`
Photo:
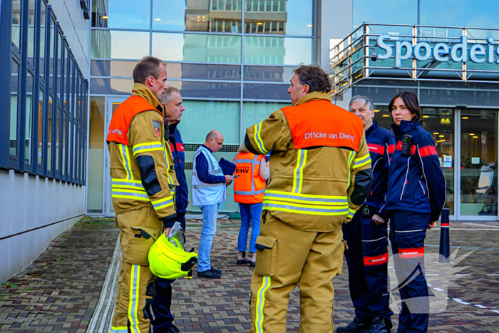
[[[234,201],[236,203],[262,203],[266,182],[260,176],[262,155],[253,153],[237,153],[234,158],[236,165],[234,179]]]

